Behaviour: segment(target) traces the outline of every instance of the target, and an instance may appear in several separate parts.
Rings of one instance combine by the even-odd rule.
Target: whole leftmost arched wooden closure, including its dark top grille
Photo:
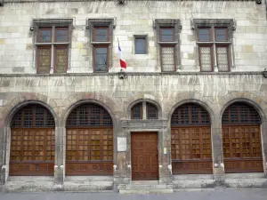
[[[10,175],[53,175],[54,119],[47,108],[30,104],[12,118]]]

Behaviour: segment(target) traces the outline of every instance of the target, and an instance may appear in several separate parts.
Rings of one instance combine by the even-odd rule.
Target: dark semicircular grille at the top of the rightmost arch
[[[261,124],[261,117],[246,103],[233,103],[223,113],[223,124]]]

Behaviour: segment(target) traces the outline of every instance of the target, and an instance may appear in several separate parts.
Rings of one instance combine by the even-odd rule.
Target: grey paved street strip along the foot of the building
[[[267,189],[220,189],[179,191],[166,195],[119,195],[117,193],[2,193],[1,200],[266,200]]]

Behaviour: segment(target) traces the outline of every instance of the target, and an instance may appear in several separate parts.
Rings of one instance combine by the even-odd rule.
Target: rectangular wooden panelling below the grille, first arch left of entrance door
[[[66,175],[112,175],[113,129],[67,129]]]

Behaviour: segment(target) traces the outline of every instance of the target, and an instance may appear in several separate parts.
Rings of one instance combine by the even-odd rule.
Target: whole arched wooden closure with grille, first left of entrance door
[[[94,103],[73,109],[66,154],[66,175],[113,174],[113,128],[107,110]]]

